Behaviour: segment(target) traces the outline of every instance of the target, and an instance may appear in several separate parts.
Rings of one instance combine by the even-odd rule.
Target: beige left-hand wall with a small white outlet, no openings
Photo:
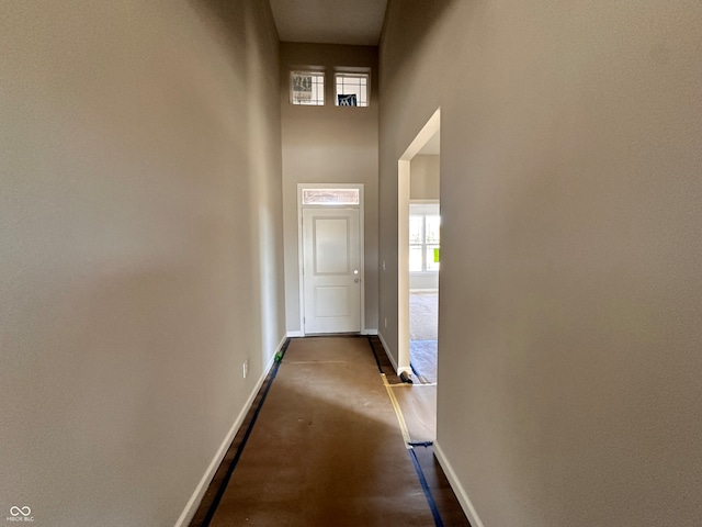
[[[284,336],[265,5],[2,2],[3,512],[172,526]]]

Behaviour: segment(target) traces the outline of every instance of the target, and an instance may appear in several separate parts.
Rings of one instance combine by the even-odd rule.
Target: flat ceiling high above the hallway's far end
[[[270,0],[283,42],[376,46],[387,0]]]

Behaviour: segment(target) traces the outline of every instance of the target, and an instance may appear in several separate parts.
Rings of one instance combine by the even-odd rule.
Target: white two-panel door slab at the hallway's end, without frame
[[[305,333],[361,330],[359,209],[303,209]]]

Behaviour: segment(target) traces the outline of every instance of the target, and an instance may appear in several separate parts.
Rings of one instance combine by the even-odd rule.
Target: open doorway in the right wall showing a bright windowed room
[[[398,373],[421,423],[420,441],[437,430],[439,381],[440,125],[437,110],[398,160]],[[400,403],[401,405],[401,403]]]

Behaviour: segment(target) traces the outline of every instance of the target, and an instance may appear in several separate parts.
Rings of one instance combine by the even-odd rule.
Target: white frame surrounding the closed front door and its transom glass
[[[305,277],[303,267],[305,264],[305,240],[303,231],[303,190],[304,189],[359,189],[358,205],[305,205],[305,209],[359,209],[359,269],[361,278],[361,335],[365,334],[365,236],[364,236],[364,195],[363,183],[297,183],[297,283],[299,285],[299,333],[305,336]]]

